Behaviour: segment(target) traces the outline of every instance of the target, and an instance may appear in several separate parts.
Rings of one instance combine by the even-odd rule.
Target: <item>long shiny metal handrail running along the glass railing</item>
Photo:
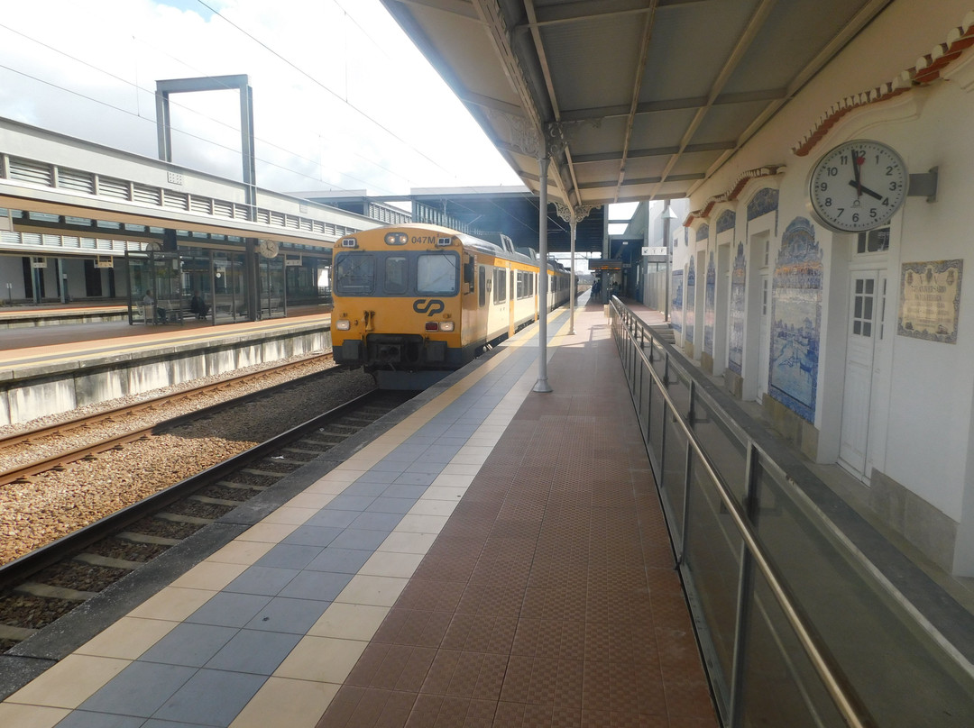
[[[619,307],[624,305],[618,301],[616,297],[613,297],[610,305],[612,306],[613,310],[618,313],[618,320],[621,321],[623,318],[623,311]],[[628,316],[625,317],[627,318]],[[622,327],[614,326],[614,328],[621,329]],[[652,366],[650,359],[643,351],[643,347],[638,346],[636,338],[629,327],[626,326],[624,328],[629,341],[635,345],[634,348],[638,352],[639,357],[642,359],[646,370],[649,371],[650,376],[656,382],[659,394],[663,397],[666,406],[669,407],[673,414],[679,414],[680,410],[676,407],[673,399],[670,397],[667,387],[661,382],[659,375]],[[640,327],[640,329],[642,328],[643,327]],[[651,330],[651,346],[653,346],[655,338],[656,337]],[[672,366],[668,360],[667,363],[669,366]],[[693,402],[693,399],[691,401]],[[808,657],[819,678],[821,678],[823,685],[834,701],[836,707],[842,713],[843,719],[849,726],[853,726],[854,728],[870,728],[871,726],[875,726],[876,723],[869,716],[869,711],[866,710],[865,706],[863,706],[861,701],[858,700],[855,693],[847,689],[848,680],[844,677],[842,669],[836,664],[835,659],[831,656],[827,647],[820,643],[821,639],[817,637],[814,628],[811,626],[809,620],[804,616],[801,607],[792,601],[791,597],[789,596],[787,586],[785,586],[783,583],[783,580],[780,578],[775,566],[771,564],[768,554],[765,553],[761,544],[758,542],[754,529],[748,524],[740,504],[734,498],[723,478],[721,478],[718,474],[710,456],[706,454],[700,445],[696,433],[682,415],[674,418],[672,421],[679,422],[679,427],[683,431],[683,434],[687,437],[687,442],[693,448],[693,452],[699,458],[699,461],[702,463],[707,476],[716,487],[724,506],[731,515],[731,520],[733,521],[738,534],[746,544],[747,552],[750,554],[751,558],[754,559],[755,564],[758,565],[758,568],[761,569],[762,574],[767,579],[771,594],[774,596],[775,601],[778,602],[778,605],[781,607],[781,610],[788,620],[789,625],[795,631],[796,636],[802,643],[802,646],[805,649],[805,655]],[[753,440],[749,442],[749,447],[754,448],[759,454],[767,457],[767,453],[765,453],[760,446],[754,443]]]

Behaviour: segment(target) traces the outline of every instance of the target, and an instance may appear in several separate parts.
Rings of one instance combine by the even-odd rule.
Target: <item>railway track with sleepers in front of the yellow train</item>
[[[273,488],[409,396],[357,397],[0,567],[0,651]]]

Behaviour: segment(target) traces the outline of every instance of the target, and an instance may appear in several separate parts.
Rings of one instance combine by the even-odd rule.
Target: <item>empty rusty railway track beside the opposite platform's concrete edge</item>
[[[302,359],[297,362],[292,361],[286,364],[281,364],[280,366],[269,367],[256,372],[249,372],[237,377],[220,380],[219,382],[208,382],[190,389],[183,389],[177,392],[162,394],[156,397],[141,400],[134,404],[110,408],[93,415],[66,419],[54,424],[36,427],[25,432],[9,435],[7,437],[0,437],[0,462],[3,462],[5,453],[14,453],[18,446],[33,446],[44,441],[56,442],[65,436],[83,433],[86,430],[90,430],[97,425],[104,423],[118,423],[125,428],[124,420],[131,419],[138,413],[160,411],[169,406],[177,407],[182,403],[190,403],[194,400],[198,400],[201,396],[206,394],[218,393],[234,387],[246,385],[250,382],[261,382],[261,380],[266,380],[267,378],[278,374],[285,374],[286,372],[299,367],[307,367],[309,364],[314,364],[318,361],[331,361],[331,359],[332,356],[329,352],[327,354]],[[308,375],[308,377],[317,376],[319,376],[318,373]],[[289,386],[290,382],[295,381],[298,380],[282,382],[281,384],[277,384],[275,386],[266,387],[262,391],[268,394],[273,394],[274,391],[280,390],[282,387]],[[84,457],[97,455],[98,453],[106,450],[120,447],[133,440],[149,437],[154,432],[162,432],[173,427],[178,427],[179,425],[192,421],[193,419],[209,417],[222,410],[228,409],[229,407],[235,406],[238,399],[239,398],[237,397],[228,399],[224,402],[220,402],[219,404],[195,410],[182,416],[163,419],[153,424],[143,424],[131,429],[125,429],[122,433],[113,434],[110,437],[98,438],[92,440],[91,442],[86,442],[84,445],[79,447],[65,447],[63,450],[58,450],[54,454],[45,455],[44,457],[35,458],[26,462],[20,462],[19,464],[12,465],[10,467],[4,467],[3,469],[0,469],[0,486],[14,483],[31,475],[44,472],[45,470],[62,467]]]

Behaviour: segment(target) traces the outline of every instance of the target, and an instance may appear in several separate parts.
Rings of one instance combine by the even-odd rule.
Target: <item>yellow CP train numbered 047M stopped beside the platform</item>
[[[386,389],[421,389],[537,320],[539,261],[509,237],[490,242],[434,225],[342,237],[331,266],[335,361]],[[548,262],[548,309],[569,273]]]

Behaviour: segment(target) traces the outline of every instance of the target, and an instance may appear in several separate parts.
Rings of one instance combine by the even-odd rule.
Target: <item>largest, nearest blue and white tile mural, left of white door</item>
[[[815,420],[822,324],[822,251],[815,230],[795,218],[781,237],[771,296],[770,395]]]

